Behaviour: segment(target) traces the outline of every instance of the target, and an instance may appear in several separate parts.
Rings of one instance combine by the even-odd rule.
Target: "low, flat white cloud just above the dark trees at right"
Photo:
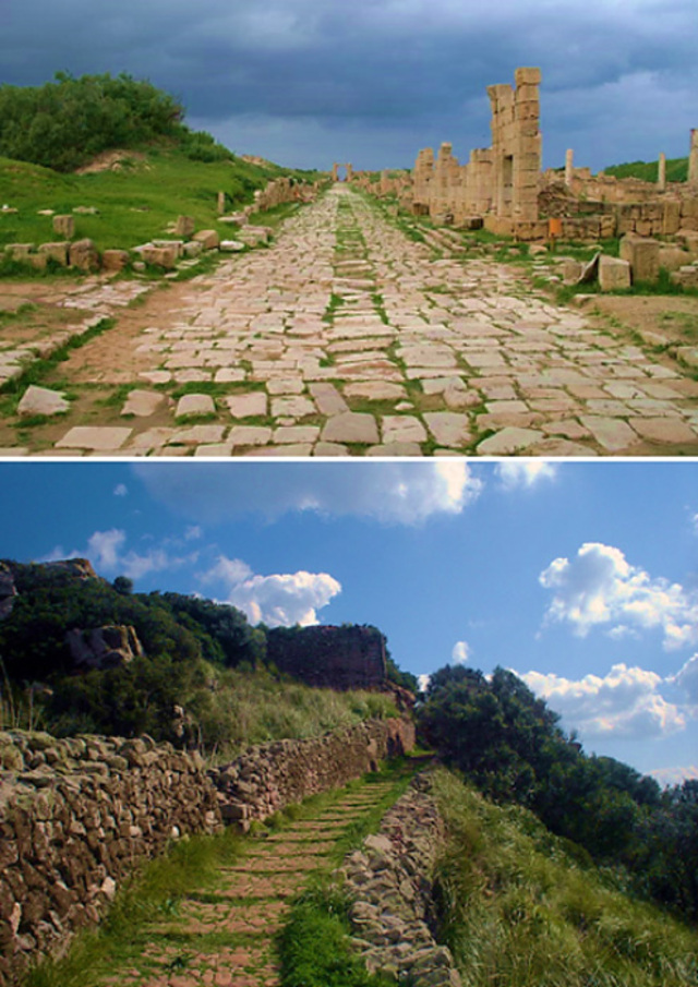
[[[647,739],[682,731],[682,710],[661,695],[663,679],[655,672],[613,665],[604,675],[565,678],[554,673],[520,676],[530,689],[559,713],[567,729],[585,738]]]

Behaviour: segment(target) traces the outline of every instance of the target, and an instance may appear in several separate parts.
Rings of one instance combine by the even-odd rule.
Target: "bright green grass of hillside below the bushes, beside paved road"
[[[261,167],[236,158],[204,164],[192,161],[176,146],[161,145],[131,158],[130,167],[91,174],[59,174],[49,168],[0,157],[0,248],[5,243],[46,243],[59,239],[50,216],[39,209],[71,213],[95,206],[98,216],[75,214],[75,239],[89,237],[99,250],[129,249],[153,238],[166,238],[179,215],[193,216],[197,229],[217,228],[216,196],[229,196],[236,208],[252,202],[254,189],[280,174],[297,172],[275,165]]]

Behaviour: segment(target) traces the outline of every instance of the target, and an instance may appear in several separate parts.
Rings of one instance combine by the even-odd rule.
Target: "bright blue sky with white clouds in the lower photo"
[[[698,777],[698,465],[4,462],[0,557],[520,674],[585,748]]]

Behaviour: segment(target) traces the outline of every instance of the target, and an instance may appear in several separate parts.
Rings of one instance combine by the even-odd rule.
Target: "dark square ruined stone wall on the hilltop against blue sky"
[[[267,635],[267,659],[315,687],[375,689],[386,684],[385,638],[375,627],[284,628]]]

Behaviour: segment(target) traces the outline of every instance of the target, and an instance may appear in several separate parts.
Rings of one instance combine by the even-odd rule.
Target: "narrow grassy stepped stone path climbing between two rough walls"
[[[266,839],[245,841],[238,862],[222,869],[213,891],[192,892],[167,920],[145,930],[142,958],[112,970],[104,987],[276,987],[275,936],[289,900],[330,855],[347,829],[394,787],[349,787],[316,815]]]

